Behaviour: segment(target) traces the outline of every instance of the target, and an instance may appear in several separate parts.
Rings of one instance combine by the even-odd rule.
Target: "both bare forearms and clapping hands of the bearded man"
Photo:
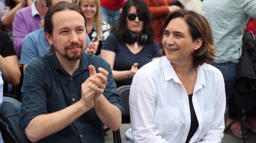
[[[96,73],[92,65],[89,66],[89,70],[91,75],[82,84],[82,97],[79,102],[58,112],[36,116],[30,121],[25,128],[25,133],[30,141],[36,142],[43,137],[60,131],[93,107],[95,107],[101,121],[108,125],[109,128],[116,130],[120,127],[121,111],[110,104],[102,95],[106,87],[108,71],[101,68],[100,73]]]

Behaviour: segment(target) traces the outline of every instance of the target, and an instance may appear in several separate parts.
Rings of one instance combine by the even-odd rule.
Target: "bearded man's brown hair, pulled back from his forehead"
[[[63,10],[75,10],[76,12],[79,12],[79,14],[82,15],[83,19],[85,20],[85,28],[86,28],[86,18],[83,14],[82,10],[79,6],[76,4],[72,4],[66,1],[58,2],[58,4],[54,4],[53,6],[50,6],[45,14],[45,32],[47,32],[49,35],[53,34],[53,14],[59,11]]]

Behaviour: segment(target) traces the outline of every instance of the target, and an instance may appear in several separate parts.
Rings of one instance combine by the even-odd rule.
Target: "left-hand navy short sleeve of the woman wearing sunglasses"
[[[112,52],[117,52],[117,45],[118,45],[118,39],[116,38],[116,36],[114,34],[110,34],[108,36],[108,38],[106,38],[103,46],[101,47],[101,49],[105,49],[108,51],[112,51]]]

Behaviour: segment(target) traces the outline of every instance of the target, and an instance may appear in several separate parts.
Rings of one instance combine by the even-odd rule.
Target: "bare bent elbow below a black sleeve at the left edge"
[[[7,57],[0,55],[0,70],[2,71],[2,78],[8,83],[14,86],[20,83],[21,73],[17,55]]]

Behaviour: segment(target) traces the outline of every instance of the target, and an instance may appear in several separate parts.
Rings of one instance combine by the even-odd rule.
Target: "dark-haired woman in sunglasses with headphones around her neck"
[[[119,21],[114,24],[113,34],[103,44],[101,57],[113,69],[118,87],[131,84],[138,68],[161,56],[160,47],[153,39],[149,15],[143,1],[127,1]]]

